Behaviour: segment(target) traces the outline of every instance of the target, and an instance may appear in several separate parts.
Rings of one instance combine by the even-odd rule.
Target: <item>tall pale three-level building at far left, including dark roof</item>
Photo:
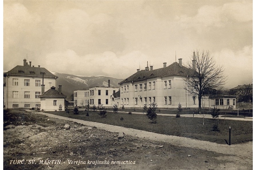
[[[46,91],[56,87],[56,77],[43,67],[34,67],[23,60],[23,66],[16,66],[4,73],[4,107],[6,109],[40,108],[41,85]]]

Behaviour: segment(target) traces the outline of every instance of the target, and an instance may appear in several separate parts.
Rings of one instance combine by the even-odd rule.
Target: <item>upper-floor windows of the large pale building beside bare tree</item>
[[[151,87],[151,85],[153,85],[153,87]],[[151,90],[151,88],[153,90],[155,89],[155,81],[154,82],[148,82],[148,90]],[[167,81],[164,81],[164,88],[167,89]],[[168,81],[168,88],[171,88],[171,80]],[[147,90],[147,83],[139,84],[139,91],[142,91],[143,89],[144,89],[144,91]],[[137,92],[137,91],[138,91],[138,84],[135,84],[135,92]],[[121,87],[121,92],[122,93],[123,92],[124,93],[129,92],[129,86],[128,85],[124,86],[124,91],[123,91],[123,87]]]

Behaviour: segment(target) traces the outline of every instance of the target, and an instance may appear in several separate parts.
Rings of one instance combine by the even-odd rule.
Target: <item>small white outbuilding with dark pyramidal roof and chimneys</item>
[[[65,110],[65,98],[62,93],[62,85],[59,85],[59,91],[52,86],[48,91],[44,92],[42,85],[42,95],[39,96],[41,100],[41,110],[44,111],[59,111],[59,106],[62,106],[62,111]]]

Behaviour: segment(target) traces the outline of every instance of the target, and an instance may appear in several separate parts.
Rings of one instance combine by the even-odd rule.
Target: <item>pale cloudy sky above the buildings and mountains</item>
[[[4,1],[4,66],[127,78],[209,50],[226,87],[252,83],[252,0]]]

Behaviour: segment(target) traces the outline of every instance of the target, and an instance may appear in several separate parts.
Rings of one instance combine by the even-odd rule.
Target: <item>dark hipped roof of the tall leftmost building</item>
[[[9,75],[25,75],[25,76],[43,76],[42,73],[44,74],[44,77],[57,77],[55,75],[53,75],[51,72],[49,72],[48,70],[46,70],[46,68],[43,67],[31,67],[29,65],[25,65],[25,66],[16,66],[14,68],[12,68],[10,71],[8,71],[7,73],[4,73],[4,76],[6,76],[6,74]]]

